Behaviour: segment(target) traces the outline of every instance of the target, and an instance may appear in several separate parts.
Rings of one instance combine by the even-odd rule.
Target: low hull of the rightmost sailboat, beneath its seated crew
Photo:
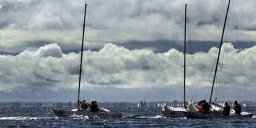
[[[230,113],[230,115],[222,115],[221,113],[197,113],[191,111],[183,112],[187,119],[207,119],[207,118],[245,118],[253,117],[252,113],[245,111],[241,112],[241,115],[236,115],[235,113]]]

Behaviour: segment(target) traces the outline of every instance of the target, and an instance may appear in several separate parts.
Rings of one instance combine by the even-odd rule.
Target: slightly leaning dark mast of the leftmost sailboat
[[[87,3],[85,3],[85,16],[86,16],[86,7],[87,7]],[[84,37],[85,37],[85,16],[83,17],[83,39],[84,39]],[[82,73],[82,61],[83,61],[83,39],[82,39],[81,59],[80,59],[80,71],[79,71],[79,84],[78,84],[77,108],[79,108],[79,97],[80,97],[80,85],[81,85],[81,73]]]

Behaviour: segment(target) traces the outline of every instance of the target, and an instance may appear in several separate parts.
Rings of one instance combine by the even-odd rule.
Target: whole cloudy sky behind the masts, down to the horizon
[[[81,99],[209,100],[228,1],[88,0]],[[231,0],[218,101],[255,101],[256,3]],[[0,0],[0,102],[77,100],[85,1]]]

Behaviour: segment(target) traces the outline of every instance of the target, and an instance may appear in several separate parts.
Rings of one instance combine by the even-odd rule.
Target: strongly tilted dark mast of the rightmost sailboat
[[[230,3],[230,0],[229,0],[229,3]],[[225,25],[226,25],[228,13],[229,13],[229,4],[227,5],[227,13],[226,13],[224,27],[223,27],[222,36],[221,36],[221,43],[219,43],[219,53],[218,53],[217,63],[216,63],[216,67],[215,67],[215,73],[214,73],[214,77],[213,77],[213,85],[211,86],[211,96],[213,95],[213,87],[214,87],[214,82],[215,82],[215,78],[216,78],[216,74],[217,74],[217,69],[218,69],[218,64],[219,64],[219,55],[221,53],[221,46],[222,46],[222,43],[223,43],[223,35],[224,35],[224,32],[225,32]],[[211,103],[211,96],[210,96],[209,103]]]

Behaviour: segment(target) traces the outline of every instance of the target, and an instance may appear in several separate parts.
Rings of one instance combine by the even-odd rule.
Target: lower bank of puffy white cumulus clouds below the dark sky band
[[[223,88],[226,91],[224,93],[232,89],[255,90],[255,51],[256,47],[235,49],[231,43],[224,43],[215,91]],[[217,52],[218,49],[213,47],[207,53],[187,55],[187,98],[198,98],[192,92],[203,90],[205,93],[199,95],[209,96],[207,92],[213,80]],[[176,49],[153,53],[149,49],[129,50],[108,43],[99,51],[87,50],[83,53],[82,85],[85,89],[96,92],[102,89],[161,92],[168,88],[171,89],[169,93],[182,89],[183,53]],[[78,53],[62,53],[57,43],[35,51],[22,51],[18,55],[0,55],[0,91],[37,88],[39,92],[41,89],[59,92],[63,88],[77,89],[79,57]],[[153,97],[158,100],[161,98]]]

